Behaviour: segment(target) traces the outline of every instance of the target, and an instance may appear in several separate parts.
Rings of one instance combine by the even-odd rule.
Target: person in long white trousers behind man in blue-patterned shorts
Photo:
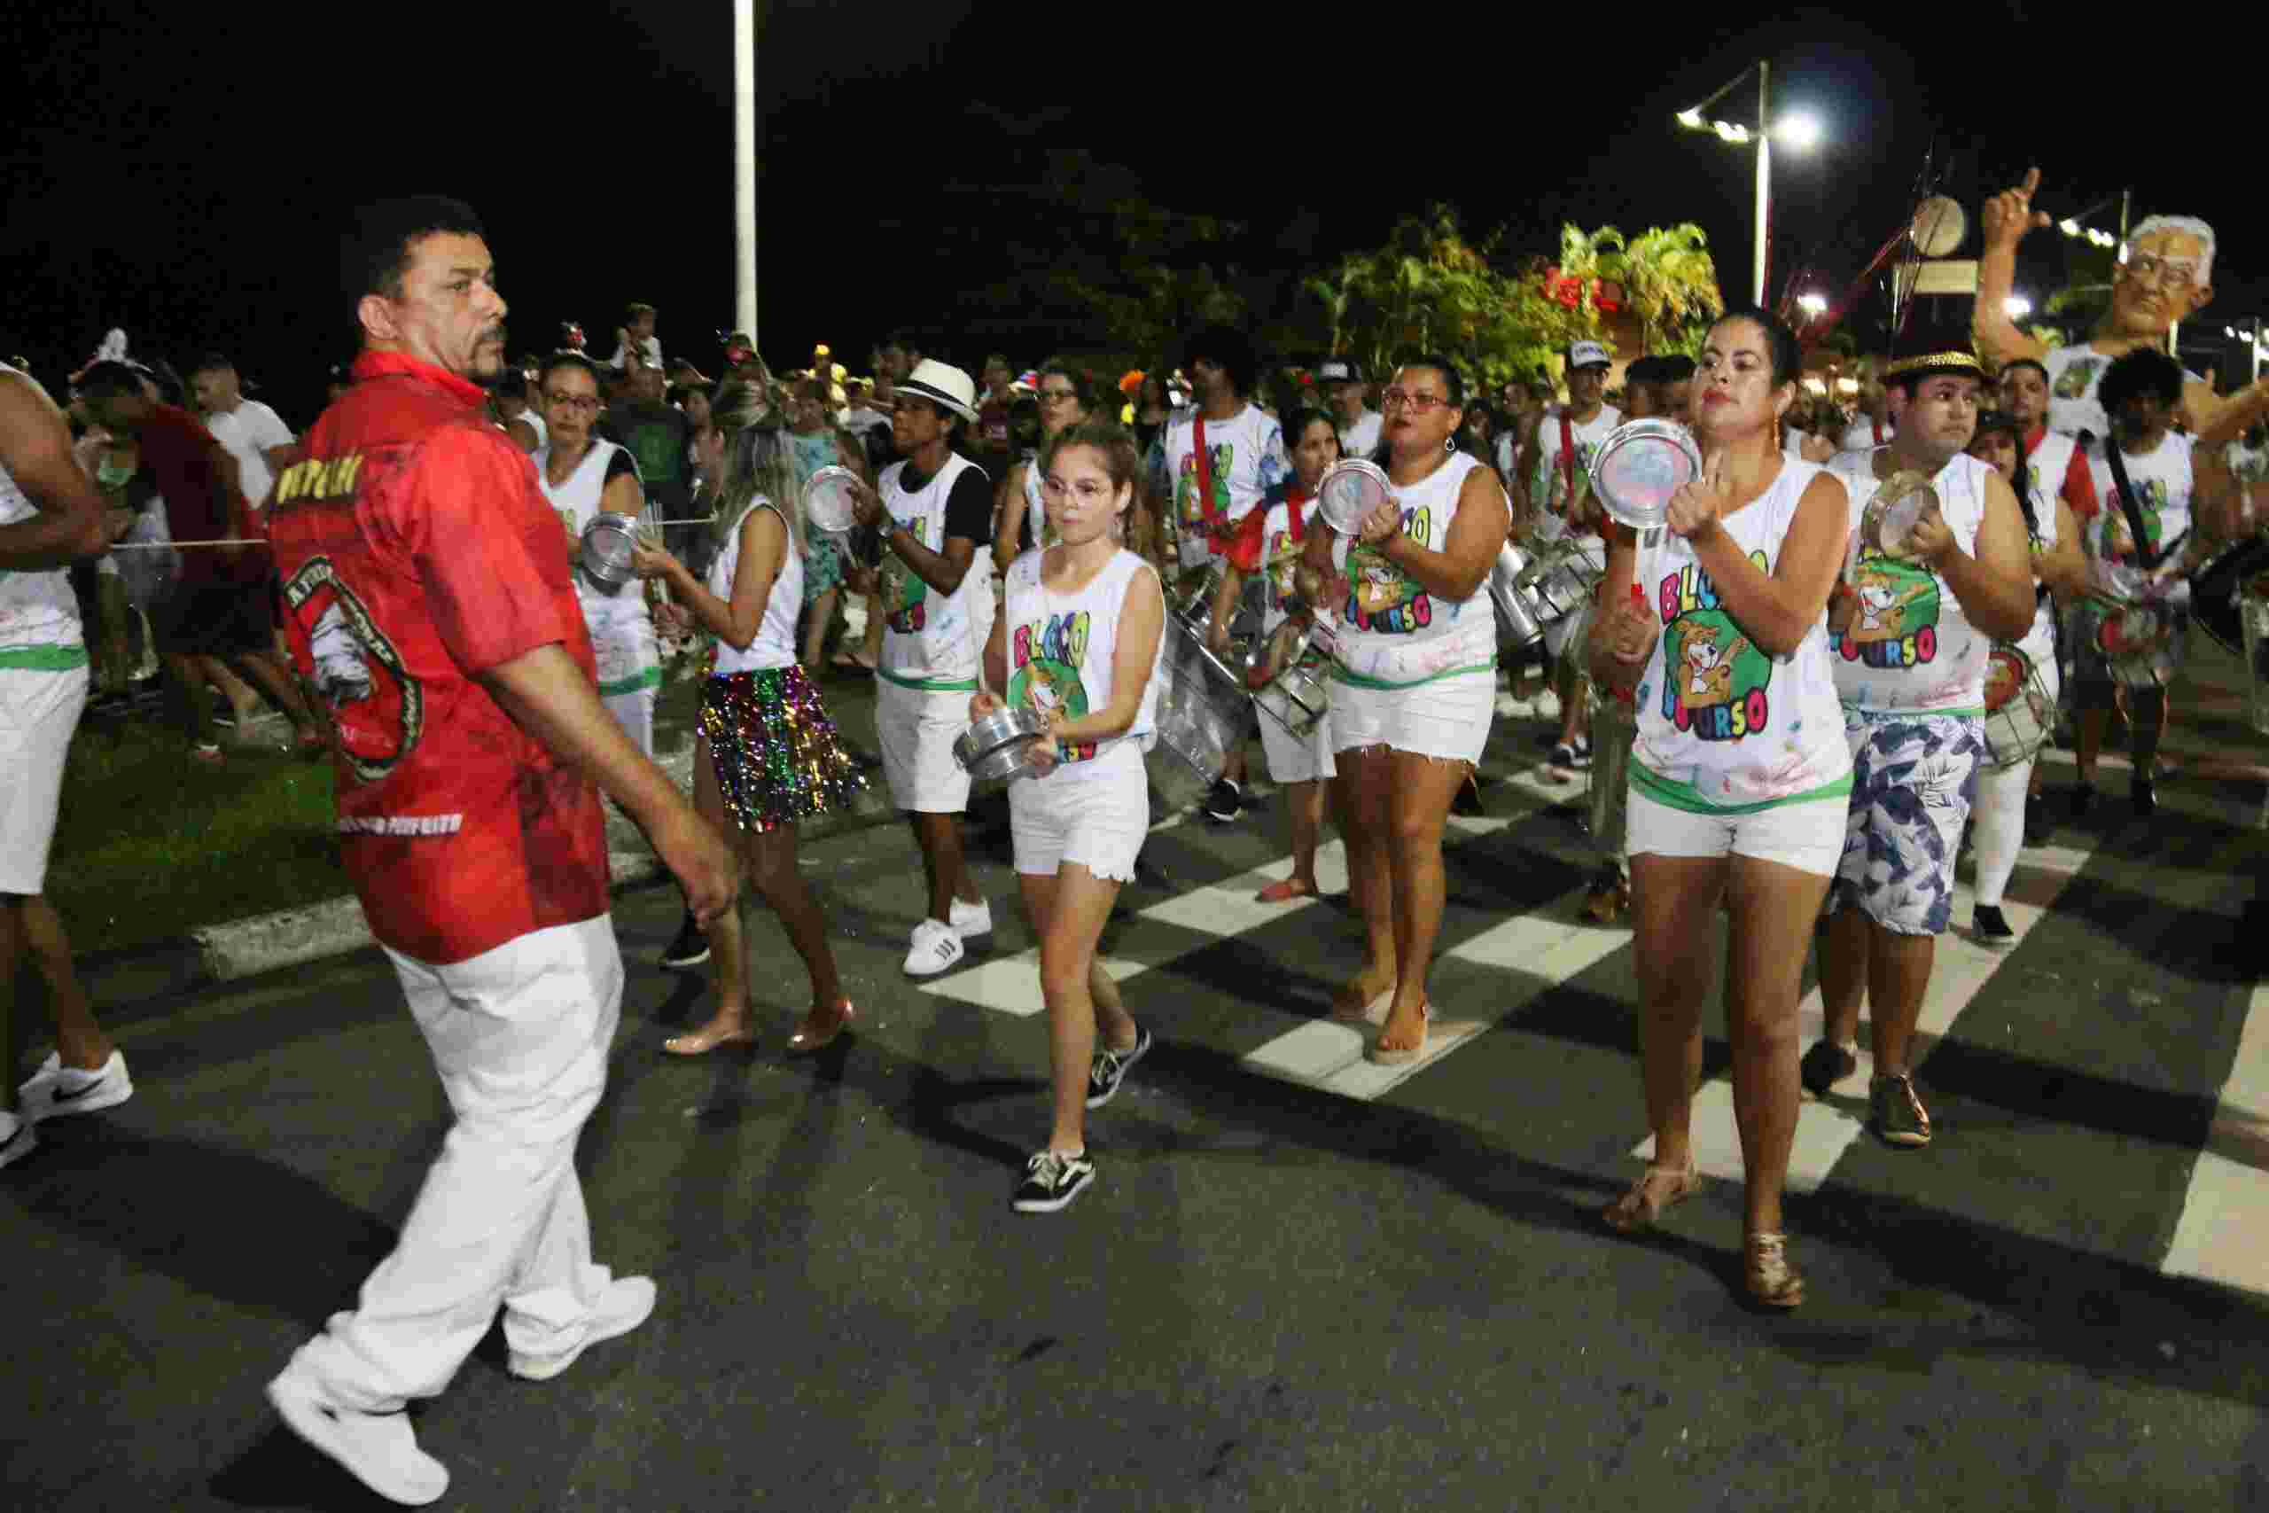
[[[2063,497],[2040,499],[2035,495],[2024,458],[2024,424],[2013,413],[1985,411],[1979,415],[1979,431],[1969,442],[1969,456],[2001,474],[2024,508],[2024,531],[2033,553],[2033,583],[2040,585],[2038,608],[2026,633],[2015,642],[1997,644],[1994,653],[1999,656],[2006,646],[2015,646],[2024,658],[2017,671],[2040,674],[2049,719],[2053,721],[2063,671],[2056,665],[2056,599],[2051,592],[2074,594],[2087,583],[2087,563],[2081,558],[2081,529],[2072,517],[2072,506]],[[1990,694],[1994,692],[1992,676],[1992,669],[1988,669],[1988,703],[1992,703]],[[2008,692],[2008,699],[2022,701],[2024,696],[2026,690],[2022,685]],[[1988,721],[1988,746],[1992,746],[1992,737],[1994,726]],[[2006,767],[1979,769],[1979,798],[1972,810],[1976,826],[1972,830],[1976,839],[1976,910],[1972,912],[1972,935],[1983,946],[2008,946],[2017,939],[2017,932],[2008,928],[2008,919],[2001,916],[2001,894],[2008,889],[2008,876],[2017,867],[2017,851],[2024,844],[2038,785],[2040,762],[2035,755]]]

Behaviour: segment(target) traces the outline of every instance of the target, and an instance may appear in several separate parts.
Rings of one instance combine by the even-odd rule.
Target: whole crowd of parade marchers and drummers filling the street
[[[1988,295],[2033,188],[1988,204]],[[2135,229],[2087,340],[2040,349],[1981,299],[1976,352],[1892,358],[1856,415],[1822,413],[1761,308],[1693,356],[1629,363],[1620,390],[1591,340],[1563,354],[1563,390],[1536,374],[1482,395],[1443,354],[1264,370],[1234,327],[1123,379],[998,354],[971,377],[905,340],[871,379],[826,347],[776,374],[735,333],[712,379],[665,361],[647,304],[608,358],[570,329],[511,361],[467,206],[368,206],[354,236],[363,349],[304,433],[220,354],[184,381],[113,336],[70,377],[68,415],[0,367],[0,699],[20,737],[0,771],[0,969],[29,955],[54,1005],[54,1053],[0,1111],[0,1164],[41,1121],[132,1096],[43,882],[73,728],[91,687],[132,699],[141,628],[200,762],[227,760],[216,690],[238,730],[272,703],[331,753],[340,857],[456,1114],[395,1252],[270,1388],[297,1434],[406,1504],[447,1470],[402,1406],[499,1311],[511,1370],[551,1377],[656,1307],[651,1279],[592,1259],[572,1159],[624,989],[601,794],[683,891],[665,964],[712,964],[708,1016],[665,1050],[758,1039],[749,882],[810,978],[785,1046],[815,1053],[855,1007],[799,823],[880,783],[926,882],[903,971],[948,971],[994,928],[955,744],[1028,717],[1007,819],[1053,1111],[1012,1207],[1053,1214],[1096,1182],[1087,1118],[1155,1043],[1098,939],[1196,653],[1234,660],[1234,637],[1287,624],[1325,649],[1325,717],[1239,724],[1200,774],[1203,812],[1246,823],[1257,728],[1291,853],[1259,898],[1316,894],[1321,839],[1343,837],[1364,955],[1332,1014],[1375,1025],[1382,1064],[1427,1048],[1448,819],[1479,801],[1498,717],[1541,715],[1547,778],[1593,776],[1584,907],[1636,939],[1654,1155],[1602,1218],[1643,1229],[1697,1189],[1697,964],[1724,919],[1745,1286],[1786,1309],[1804,1298],[1781,1218],[1797,1107],[1856,1075],[1863,1007],[1870,1127],[1931,1141],[1910,1043],[1972,810],[1969,928],[2013,937],[2001,889],[2047,814],[2038,744],[1994,724],[1997,678],[2069,705],[2076,812],[2122,719],[2149,817],[2190,585],[2260,526],[2269,388],[2215,395],[2165,352],[2210,293],[2215,238],[2187,218]],[[1661,540],[1593,488],[1634,420],[1702,458]],[[1343,460],[1377,497],[1334,524]],[[1926,504],[1888,524],[1917,483]],[[849,519],[819,508],[824,485]],[[594,553],[624,517],[626,563]],[[1534,592],[1502,578],[1509,549],[1581,585],[1534,653],[1507,637],[1504,594]],[[653,760],[672,662],[699,678],[690,798]],[[874,758],[826,692],[867,676]],[[1827,1034],[1799,1055],[1815,937]]]

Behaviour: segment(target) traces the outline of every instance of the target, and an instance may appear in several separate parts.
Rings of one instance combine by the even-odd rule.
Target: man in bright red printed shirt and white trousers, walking
[[[456,1125],[356,1309],[268,1395],[370,1488],[424,1504],[449,1474],[402,1409],[499,1309],[531,1379],[653,1311],[653,1282],[590,1259],[574,1173],[622,1005],[599,789],[703,923],[737,878],[599,703],[558,517],[486,417],[504,299],[479,220],[442,197],[370,206],[352,254],[363,354],[277,479],[270,540],[334,721],[340,855]]]

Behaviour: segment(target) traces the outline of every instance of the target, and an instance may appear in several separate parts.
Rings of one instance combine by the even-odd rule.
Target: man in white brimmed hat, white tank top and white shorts
[[[992,905],[962,855],[969,774],[953,760],[992,631],[971,635],[971,574],[992,540],[992,485],[951,445],[955,426],[976,417],[976,383],[960,367],[923,361],[899,383],[889,422],[899,460],[883,470],[880,495],[860,490],[858,504],[858,524],[878,533],[883,558],[844,572],[853,592],[883,597],[874,724],[889,801],[914,826],[928,880],[905,953],[914,978],[955,966],[964,939],[992,932]]]

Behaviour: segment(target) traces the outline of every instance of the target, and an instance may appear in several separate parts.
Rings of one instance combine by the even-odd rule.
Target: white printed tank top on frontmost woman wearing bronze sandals
[[[1722,526],[1768,576],[1817,463],[1781,458],[1781,476]],[[1684,810],[1745,810],[1813,798],[1849,783],[1827,615],[1786,658],[1768,656],[1718,606],[1693,547],[1665,533],[1643,585],[1663,622],[1638,678],[1631,789]],[[1668,671],[1665,671],[1668,669]]]

